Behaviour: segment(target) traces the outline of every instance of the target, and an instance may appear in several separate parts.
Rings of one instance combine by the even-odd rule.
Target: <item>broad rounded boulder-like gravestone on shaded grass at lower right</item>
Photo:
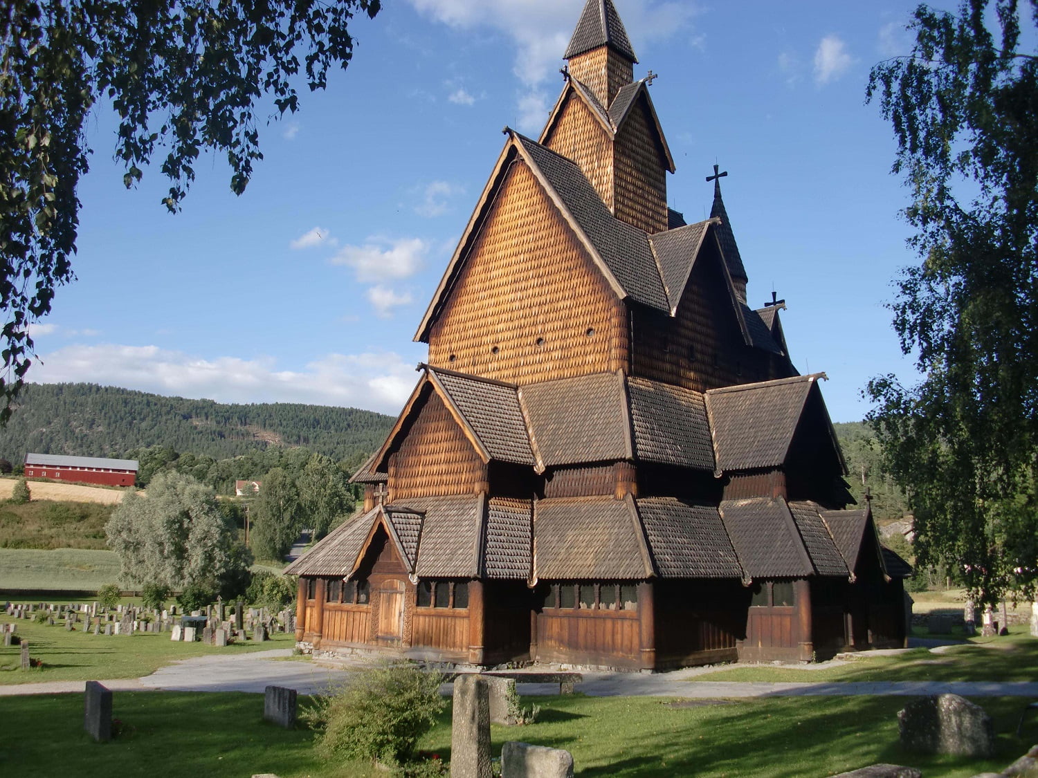
[[[991,717],[957,694],[909,702],[898,712],[898,731],[909,751],[981,757],[994,753]]]

